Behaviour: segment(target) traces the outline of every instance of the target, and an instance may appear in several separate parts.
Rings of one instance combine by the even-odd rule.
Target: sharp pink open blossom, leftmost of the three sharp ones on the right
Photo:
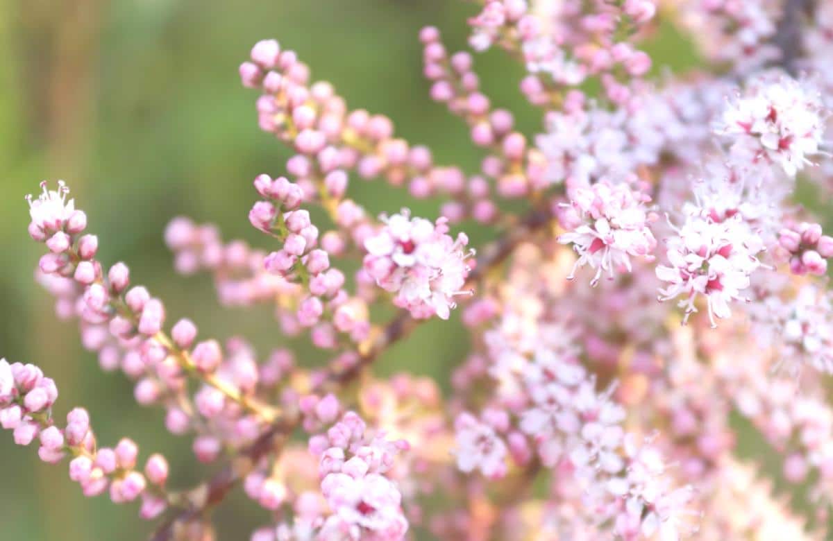
[[[611,277],[615,270],[630,272],[631,256],[644,256],[651,261],[656,239],[648,227],[651,216],[646,211],[646,201],[651,198],[626,184],[601,181],[577,189],[571,204],[580,225],[558,237],[561,244],[572,244],[579,255],[574,270],[585,265],[596,269],[591,281],[596,284],[604,271]]]

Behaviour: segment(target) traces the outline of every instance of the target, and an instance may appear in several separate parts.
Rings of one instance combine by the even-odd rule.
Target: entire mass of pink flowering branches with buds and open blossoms
[[[525,112],[488,97],[472,53],[436,27],[418,36],[429,97],[483,153],[472,171],[350,109],[277,41],[240,66],[260,127],[289,151],[282,176],[254,180],[262,235],[223,241],[177,216],[164,241],[176,271],[210,274],[224,307],[269,306],[312,355],[261,357],[170,321],[126,264],[100,261],[66,184],[28,198],[57,315],[216,464],[207,479],[169,489],[161,455],[142,472],[131,439],[99,447],[85,410],[59,426],[56,385],[33,365],[0,360],[0,425],[44,461],[70,459],[84,494],[166,512],[158,541],[212,541],[208,511],[237,484],[269,516],[252,541],[830,537],[833,240],[796,186],[833,187],[833,8],[479,4],[470,45],[521,63]],[[696,34],[702,69],[653,77],[644,38],[660,8]],[[516,122],[529,111],[538,127]],[[440,215],[377,218],[351,198],[356,178]],[[475,254],[461,224],[491,241]],[[572,280],[585,266],[591,279]],[[431,319],[468,348],[442,354],[448,392],[373,373]],[[738,459],[763,446],[746,438],[812,516]]]

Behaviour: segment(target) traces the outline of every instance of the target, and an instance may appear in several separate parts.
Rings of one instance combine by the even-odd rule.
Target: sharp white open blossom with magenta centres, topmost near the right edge
[[[821,94],[809,81],[765,72],[727,103],[716,132],[730,136],[739,161],[772,161],[796,176],[820,153],[825,130]]]

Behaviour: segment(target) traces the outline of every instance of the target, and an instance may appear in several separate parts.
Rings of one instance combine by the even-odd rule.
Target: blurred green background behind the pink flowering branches
[[[427,143],[438,163],[476,171],[482,154],[467,129],[427,98],[420,27],[440,27],[450,49],[465,47],[475,7],[449,0],[5,0],[0,2],[0,356],[40,365],[57,381],[56,414],[75,405],[92,414],[103,444],[136,439],[142,456],[172,462],[172,486],[211,468],[194,464],[191,440],[168,435],[157,409],[132,399],[119,373],[103,374],[82,350],[74,323],[54,316],[52,299],[32,281],[42,246],[32,242],[25,194],[62,178],[105,264],[126,261],[134,283],[166,300],[168,319],[188,315],[202,336],[244,335],[266,355],[282,343],[271,311],[221,310],[207,276],[172,271],[162,230],[173,216],[213,221],[226,239],[269,246],[247,222],[252,178],[281,174],[289,152],[257,128],[257,94],[243,89],[237,66],[254,42],[277,37],[332,82],[352,108],[392,117],[397,133]],[[690,47],[663,27],[651,48],[656,65],[686,67]],[[541,117],[517,90],[521,67],[501,52],[476,57],[493,102],[516,112],[527,135]],[[436,216],[436,201],[413,205],[382,182],[354,181],[351,195],[371,211],[410,205]],[[489,231],[469,231],[477,246]],[[418,344],[418,347],[415,347]],[[382,373],[446,375],[467,347],[461,325],[423,325],[387,352]],[[326,355],[302,350],[302,361]],[[247,539],[265,511],[240,494],[219,511],[219,539]],[[144,539],[151,527],[135,505],[85,499],[66,464],[42,464],[33,448],[0,437],[0,539]]]

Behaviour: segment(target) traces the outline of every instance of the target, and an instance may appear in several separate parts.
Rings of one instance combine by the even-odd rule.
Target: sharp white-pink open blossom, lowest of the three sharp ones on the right
[[[709,320],[731,315],[729,303],[744,300],[743,290],[750,285],[749,276],[761,266],[758,254],[763,250],[761,237],[746,225],[742,216],[723,221],[691,214],[686,223],[667,240],[669,265],[656,267],[656,277],[668,285],[660,290],[660,300],[684,295],[680,306],[686,317],[696,312],[697,295],[706,295]]]

